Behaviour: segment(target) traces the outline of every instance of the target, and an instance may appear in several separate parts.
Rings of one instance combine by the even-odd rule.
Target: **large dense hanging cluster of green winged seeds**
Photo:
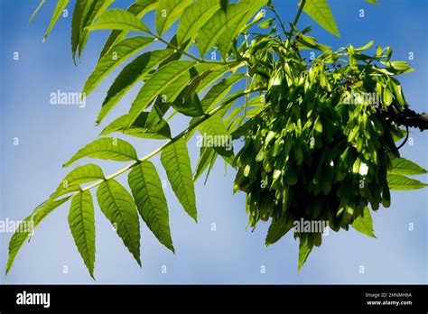
[[[234,189],[247,193],[250,226],[272,217],[285,229],[304,219],[348,230],[368,203],[374,210],[389,206],[386,171],[401,130],[377,115],[384,103],[346,103],[346,70],[326,74],[322,63],[302,73],[287,63],[275,70],[266,109],[235,160]],[[376,89],[377,81],[364,77],[351,84],[357,94]],[[310,247],[321,245],[321,233],[294,235]]]

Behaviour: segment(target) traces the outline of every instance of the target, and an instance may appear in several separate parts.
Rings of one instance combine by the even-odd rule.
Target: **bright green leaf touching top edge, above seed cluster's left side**
[[[251,7],[251,5],[249,5]],[[219,40],[225,32],[231,32],[242,21],[248,12],[247,3],[228,5],[228,11],[217,11],[198,32],[197,45],[200,49],[200,56],[204,56],[209,49]]]

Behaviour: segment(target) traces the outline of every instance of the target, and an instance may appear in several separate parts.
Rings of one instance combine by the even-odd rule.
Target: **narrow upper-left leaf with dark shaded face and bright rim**
[[[104,99],[98,114],[97,125],[138,81],[142,80],[156,65],[166,60],[172,53],[173,51],[169,49],[148,51],[127,64],[108,89],[107,97]]]

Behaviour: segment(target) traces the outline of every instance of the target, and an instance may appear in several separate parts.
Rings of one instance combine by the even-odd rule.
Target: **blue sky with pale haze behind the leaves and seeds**
[[[390,45],[395,60],[408,60],[416,69],[400,77],[405,96],[416,111],[428,111],[427,32],[424,0],[381,0],[369,5],[363,0],[330,0],[341,38],[323,31],[302,15],[299,27],[311,25],[319,42],[335,48],[352,43],[361,46],[370,40]],[[126,7],[131,1],[118,1]],[[297,1],[274,0],[285,21],[293,20]],[[47,1],[33,24],[28,19],[38,2],[0,0],[0,118],[1,118],[1,199],[0,219],[20,220],[44,200],[67,171],[64,161],[98,136],[104,125],[94,126],[111,74],[87,99],[87,106],[51,106],[51,92],[80,91],[96,64],[107,32],[94,32],[78,67],[71,60],[70,23],[60,21],[46,42],[42,42],[54,1]],[[70,8],[74,1],[70,2]],[[359,17],[364,10],[365,17]],[[153,23],[147,23],[153,27]],[[13,60],[14,52],[20,59]],[[126,113],[138,88],[133,89],[112,112]],[[186,119],[172,123],[179,132]],[[423,137],[423,135],[425,137]],[[403,156],[428,168],[426,134],[411,135],[414,145],[405,145]],[[19,145],[14,145],[14,138]],[[127,140],[129,140],[127,138]],[[151,152],[159,143],[130,140],[139,155]],[[193,166],[198,152],[190,145]],[[85,161],[86,162],[86,161]],[[95,162],[95,161],[91,161]],[[154,160],[161,178],[166,175]],[[98,162],[106,173],[124,166],[120,162]],[[423,179],[423,178],[421,178]],[[424,178],[426,180],[426,178]],[[232,194],[234,171],[225,176],[219,162],[206,186],[196,186],[199,222],[195,224],[165,189],[170,206],[172,239],[176,255],[159,245],[142,224],[139,268],[112,230],[107,219],[96,210],[97,259],[95,283],[426,283],[427,278],[427,192],[394,192],[391,208],[373,214],[376,239],[349,232],[330,232],[321,248],[315,249],[297,275],[297,242],[286,235],[279,243],[264,246],[267,224],[255,232],[246,231],[245,196]],[[126,176],[119,181],[125,183]],[[14,268],[1,281],[5,283],[93,283],[82,263],[67,223],[68,206],[58,208],[35,231],[30,244],[23,245]],[[215,223],[216,231],[211,231]],[[414,231],[409,231],[409,224]],[[0,234],[0,272],[4,273],[7,243],[12,234]],[[360,266],[365,273],[359,273]],[[64,266],[68,273],[63,273]],[[162,273],[166,266],[167,273]],[[261,267],[265,266],[265,273]]]

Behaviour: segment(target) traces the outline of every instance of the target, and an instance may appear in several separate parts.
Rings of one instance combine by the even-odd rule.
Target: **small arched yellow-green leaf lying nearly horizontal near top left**
[[[121,30],[149,32],[149,29],[134,14],[121,9],[110,9],[99,16],[98,21],[87,27],[88,31]]]

